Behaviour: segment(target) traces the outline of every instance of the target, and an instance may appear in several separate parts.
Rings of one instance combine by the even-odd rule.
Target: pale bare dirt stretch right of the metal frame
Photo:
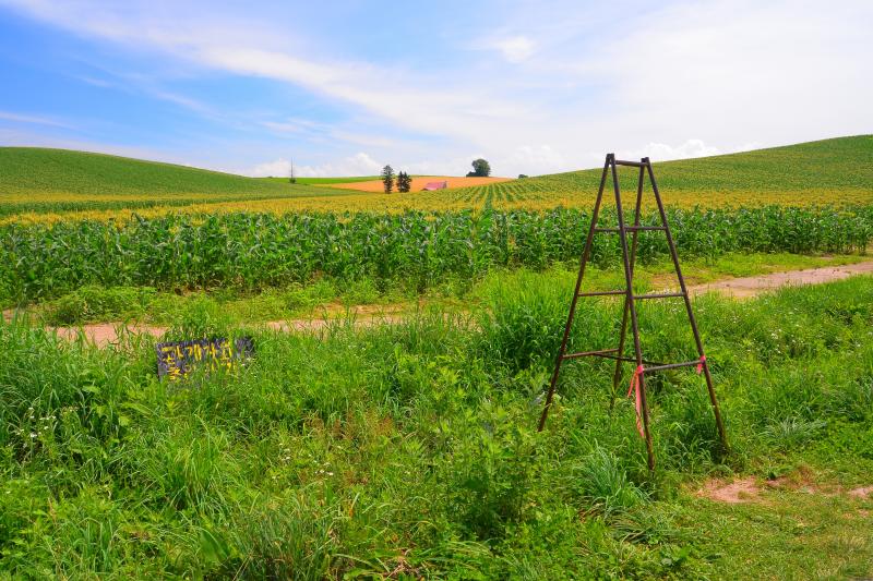
[[[748,299],[781,287],[821,285],[823,282],[842,280],[844,278],[849,278],[854,275],[871,274],[873,274],[873,261],[868,261],[841,266],[825,266],[822,268],[808,268],[805,270],[773,273],[756,277],[731,278],[728,280],[719,280],[718,282],[689,287],[689,292],[692,294],[719,292],[737,299]]]

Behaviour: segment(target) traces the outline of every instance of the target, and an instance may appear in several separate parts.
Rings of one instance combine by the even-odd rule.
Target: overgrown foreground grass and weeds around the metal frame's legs
[[[658,470],[612,366],[565,367],[537,434],[572,276],[518,273],[465,317],[322,336],[194,310],[168,337],[247,332],[244,368],[154,375],[116,349],[0,323],[0,570],[13,578],[847,579],[873,574],[873,278],[695,301],[732,451],[699,376],[649,387]],[[610,306],[611,304],[611,306]],[[585,302],[573,349],[612,347]],[[693,358],[667,302],[653,359]],[[681,320],[681,318],[680,318]],[[627,380],[625,372],[624,382]],[[702,494],[733,477],[740,505]],[[769,483],[770,485],[766,485]]]

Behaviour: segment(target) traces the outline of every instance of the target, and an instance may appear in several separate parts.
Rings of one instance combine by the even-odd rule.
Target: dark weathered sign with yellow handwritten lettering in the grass
[[[206,365],[211,371],[232,370],[251,359],[253,353],[251,337],[240,337],[232,343],[226,338],[157,343],[157,376],[175,382],[200,365]]]

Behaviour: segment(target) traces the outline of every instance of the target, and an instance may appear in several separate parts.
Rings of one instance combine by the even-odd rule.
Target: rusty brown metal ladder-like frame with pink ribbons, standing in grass
[[[621,203],[621,189],[619,186],[619,178],[617,170],[618,166],[630,166],[639,169],[639,179],[637,181],[637,187],[636,187],[636,205],[634,209],[633,226],[626,226],[624,223],[624,214]],[[603,199],[603,187],[606,185],[607,175],[609,173],[612,174],[612,185],[615,194],[615,209],[618,214],[619,226],[618,228],[599,228],[597,226],[597,219],[600,214],[600,206]],[[643,202],[643,186],[645,183],[646,174],[648,174],[648,180],[651,183],[651,191],[655,194],[655,202],[658,205],[658,214],[660,215],[661,219],[660,226],[641,226],[639,223],[641,206]],[[634,294],[633,280],[634,280],[634,263],[636,262],[637,234],[644,231],[662,231],[667,235],[667,245],[670,249],[670,256],[673,261],[673,267],[675,268],[677,277],[679,278],[679,287],[680,287],[679,292]],[[614,233],[619,235],[619,240],[621,242],[622,261],[624,262],[625,289],[581,293],[579,289],[582,288],[582,279],[585,276],[585,266],[588,262],[588,256],[591,251],[591,242],[594,240],[594,235],[595,233],[601,233],[601,232]],[[631,233],[630,249],[627,244],[629,232]],[[566,343],[567,339],[570,338],[571,329],[573,327],[573,318],[576,315],[576,303],[578,299],[584,296],[609,296],[609,295],[624,295],[624,312],[621,322],[621,332],[619,335],[619,346],[615,349],[585,351],[582,353],[567,353]],[[685,311],[687,312],[689,323],[691,324],[691,330],[692,334],[694,335],[694,341],[697,347],[698,359],[694,361],[685,361],[681,363],[656,363],[643,359],[643,351],[639,347],[639,328],[637,325],[637,317],[636,317],[636,301],[649,300],[649,299],[670,299],[670,298],[682,298],[682,300],[685,303]],[[633,334],[633,341],[634,341],[633,358],[624,355],[624,342],[627,334],[629,317],[631,319],[631,332]],[[564,327],[564,337],[561,340],[561,349],[558,353],[558,359],[554,363],[554,372],[552,373],[551,383],[549,385],[549,392],[548,396],[546,397],[546,404],[542,409],[542,415],[540,416],[539,420],[538,429],[540,432],[546,426],[546,420],[549,415],[549,408],[552,404],[552,399],[554,397],[554,389],[558,384],[558,376],[561,373],[561,364],[566,360],[587,358],[587,356],[597,356],[597,358],[615,360],[615,373],[612,378],[613,402],[615,392],[619,387],[619,382],[621,380],[622,363],[633,362],[636,364],[636,371],[634,372],[634,375],[631,380],[631,391],[629,391],[629,395],[633,394],[636,397],[637,429],[639,431],[641,436],[643,436],[646,441],[646,452],[648,456],[649,470],[655,470],[655,453],[651,447],[651,432],[649,429],[648,402],[646,401],[645,376],[646,374],[649,373],[660,372],[665,370],[673,370],[677,367],[691,367],[696,365],[697,371],[703,372],[704,376],[706,377],[706,387],[709,390],[709,400],[713,403],[713,412],[715,413],[716,425],[718,426],[718,435],[721,440],[721,446],[723,448],[723,451],[725,452],[728,451],[728,440],[725,434],[725,425],[721,421],[721,413],[718,410],[718,400],[716,399],[715,388],[713,387],[713,376],[709,374],[709,366],[706,361],[706,355],[704,354],[703,343],[701,342],[701,334],[697,330],[697,323],[694,319],[694,313],[691,310],[691,299],[689,298],[687,288],[685,287],[685,279],[682,277],[682,269],[679,266],[679,257],[675,252],[675,244],[673,243],[673,237],[670,233],[670,227],[667,223],[667,214],[663,210],[663,203],[661,202],[660,192],[658,191],[658,184],[655,181],[655,173],[651,170],[651,162],[647,157],[642,158],[639,161],[623,161],[620,159],[615,159],[614,154],[607,154],[606,164],[603,164],[603,173],[600,177],[600,187],[597,192],[597,202],[595,202],[594,213],[591,214],[591,223],[588,228],[588,237],[585,240],[585,249],[582,252],[582,262],[579,264],[579,274],[578,277],[576,278],[576,288],[573,291],[573,300],[570,303],[570,313],[566,318],[566,326]]]

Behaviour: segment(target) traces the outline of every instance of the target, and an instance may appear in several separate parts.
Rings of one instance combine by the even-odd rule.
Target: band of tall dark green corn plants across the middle
[[[873,237],[873,208],[680,209],[668,217],[680,254],[850,252]],[[606,211],[603,222],[614,222]],[[647,217],[655,223],[656,217]],[[542,268],[578,259],[588,210],[404,214],[169,215],[125,221],[0,226],[0,299],[51,298],[82,285],[162,289],[259,289],[327,276],[404,279],[424,290],[493,267]],[[662,233],[644,232],[639,259],[666,255]],[[614,235],[595,239],[593,259],[618,261]]]

